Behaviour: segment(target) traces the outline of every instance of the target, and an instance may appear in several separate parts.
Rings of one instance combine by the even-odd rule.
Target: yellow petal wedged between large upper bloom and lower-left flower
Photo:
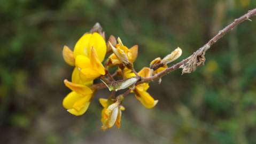
[[[72,83],[81,84],[81,85],[91,85],[93,83],[93,79],[86,79],[83,77],[84,75],[78,70],[78,68],[74,68],[72,73]]]

